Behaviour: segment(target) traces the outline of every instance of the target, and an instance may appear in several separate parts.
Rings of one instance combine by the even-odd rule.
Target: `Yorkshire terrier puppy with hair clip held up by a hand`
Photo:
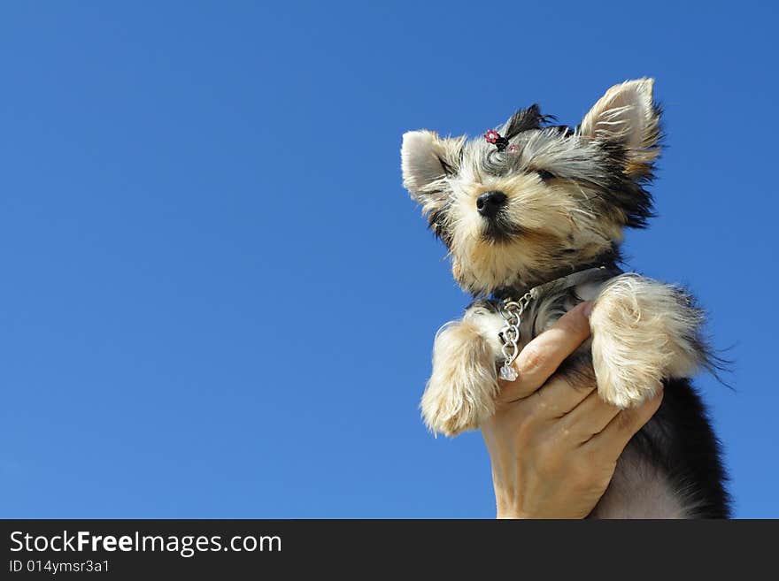
[[[571,383],[627,409],[665,386],[590,516],[729,516],[725,472],[690,378],[713,366],[702,312],[682,288],[623,273],[623,229],[652,217],[660,111],[651,79],[605,92],[579,126],[537,105],[483,137],[403,136],[403,184],[474,302],[436,334],[421,401],[433,432],[474,430],[495,411],[498,377],[522,346],[578,302],[591,339],[561,366]],[[572,386],[572,388],[575,388]]]

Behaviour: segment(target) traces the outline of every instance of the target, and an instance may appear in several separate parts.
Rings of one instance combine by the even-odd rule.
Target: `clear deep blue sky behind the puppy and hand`
[[[0,8],[0,516],[493,516],[481,436],[419,418],[468,299],[400,136],[644,75],[629,267],[711,313],[736,514],[779,516],[775,6],[374,4]]]

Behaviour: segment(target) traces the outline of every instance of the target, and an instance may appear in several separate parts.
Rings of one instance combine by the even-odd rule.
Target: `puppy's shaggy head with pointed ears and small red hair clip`
[[[651,79],[606,91],[575,129],[537,105],[484,136],[403,136],[403,184],[472,294],[538,284],[613,254],[652,216],[659,108]]]

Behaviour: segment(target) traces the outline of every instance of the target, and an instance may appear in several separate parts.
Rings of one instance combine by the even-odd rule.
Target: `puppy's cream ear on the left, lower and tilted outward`
[[[403,186],[422,204],[425,213],[443,203],[446,177],[458,170],[463,141],[463,138],[443,138],[427,130],[403,135],[400,149]]]

